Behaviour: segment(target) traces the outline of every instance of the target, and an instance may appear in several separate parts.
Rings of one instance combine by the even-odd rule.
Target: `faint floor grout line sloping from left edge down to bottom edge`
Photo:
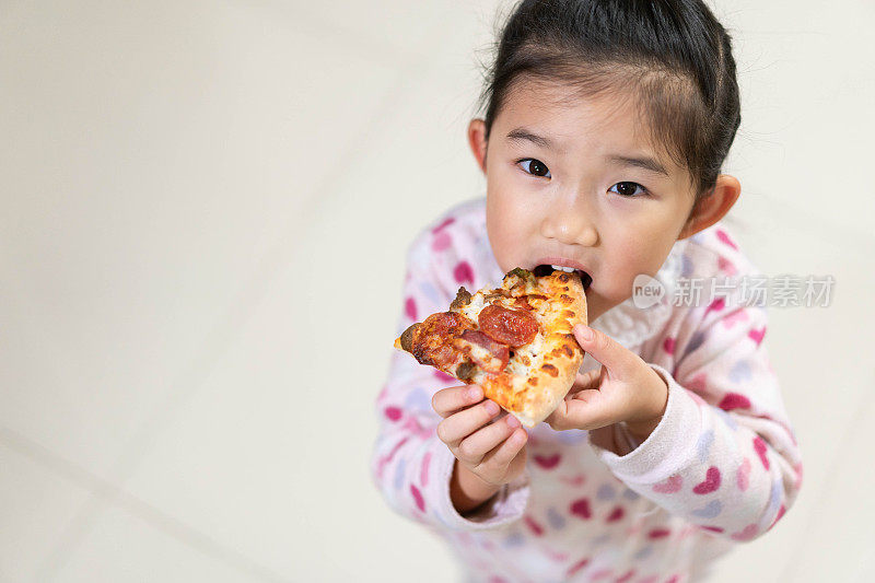
[[[142,520],[150,526],[162,530],[187,546],[194,547],[203,555],[218,559],[220,562],[231,563],[242,572],[256,575],[264,581],[289,581],[269,569],[261,567],[249,557],[246,557],[233,548],[223,546],[203,533],[161,512],[161,510],[155,506],[124,491],[120,487],[61,457],[43,445],[21,435],[16,431],[0,425],[0,443],[61,478],[78,483],[89,490],[92,495],[82,508],[89,506],[96,510],[101,503],[116,504],[129,511],[133,516]],[[39,579],[38,575],[36,579]]]

